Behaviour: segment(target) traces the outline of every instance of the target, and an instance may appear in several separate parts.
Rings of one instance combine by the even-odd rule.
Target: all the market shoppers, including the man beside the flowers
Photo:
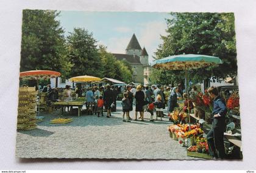
[[[57,101],[59,98],[58,89],[52,89],[50,85],[44,88],[43,92],[48,93],[48,100]],[[89,115],[98,115],[98,117],[104,117],[104,110],[107,112],[107,118],[111,117],[111,112],[116,111],[116,100],[118,94],[121,93],[120,89],[115,86],[93,86],[88,87],[85,91],[79,86],[76,89],[71,90],[70,86],[66,86],[63,89],[63,101],[68,101],[72,97],[72,93],[76,94],[76,97],[85,95],[87,112]],[[190,95],[196,94],[197,88],[193,87],[190,90]],[[225,101],[219,96],[216,87],[210,87],[208,89],[210,97],[213,100],[213,126],[207,134],[207,141],[209,146],[209,152],[212,157],[224,158],[224,141],[223,132],[225,130],[225,116],[227,114],[227,108]],[[182,99],[183,98],[183,99]],[[126,86],[123,92],[123,99],[121,105],[123,108],[123,121],[130,122],[131,120],[144,121],[144,112],[150,113],[151,118],[149,121],[154,121],[154,112],[156,119],[164,117],[163,110],[167,106],[167,112],[172,112],[176,107],[179,107],[178,100],[185,100],[183,111],[188,112],[191,109],[194,110],[194,114],[199,114],[199,109],[192,103],[191,100],[187,100],[188,95],[181,87],[174,86]],[[135,106],[135,118],[130,117],[130,112],[133,111]],[[138,117],[138,114],[140,117]]]

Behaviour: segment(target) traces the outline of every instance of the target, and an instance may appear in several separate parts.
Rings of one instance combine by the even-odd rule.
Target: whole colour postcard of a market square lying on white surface
[[[242,160],[233,13],[23,10],[16,157]]]

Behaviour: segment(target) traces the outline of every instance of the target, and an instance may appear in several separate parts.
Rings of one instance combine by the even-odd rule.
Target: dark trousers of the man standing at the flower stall
[[[207,143],[212,157],[225,158],[223,127],[212,127],[207,134]]]

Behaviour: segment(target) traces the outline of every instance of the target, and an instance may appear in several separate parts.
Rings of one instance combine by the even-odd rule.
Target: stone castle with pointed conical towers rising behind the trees
[[[141,49],[138,39],[133,33],[132,38],[126,48],[126,54],[113,53],[118,60],[127,61],[132,66],[132,81],[134,83],[148,84],[149,83],[149,60],[148,53],[145,49]]]

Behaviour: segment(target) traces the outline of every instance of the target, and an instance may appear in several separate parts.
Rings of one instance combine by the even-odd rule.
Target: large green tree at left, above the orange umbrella
[[[52,10],[23,10],[20,71],[56,70],[67,75],[72,64],[66,56],[64,31]]]

